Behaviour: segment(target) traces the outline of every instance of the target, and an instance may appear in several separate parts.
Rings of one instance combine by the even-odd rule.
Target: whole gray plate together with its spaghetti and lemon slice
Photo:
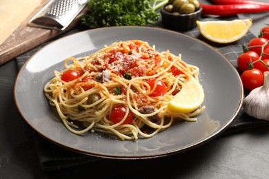
[[[159,28],[113,27],[41,48],[21,67],[14,97],[26,122],[62,147],[153,158],[220,134],[241,109],[243,87],[206,43]]]

